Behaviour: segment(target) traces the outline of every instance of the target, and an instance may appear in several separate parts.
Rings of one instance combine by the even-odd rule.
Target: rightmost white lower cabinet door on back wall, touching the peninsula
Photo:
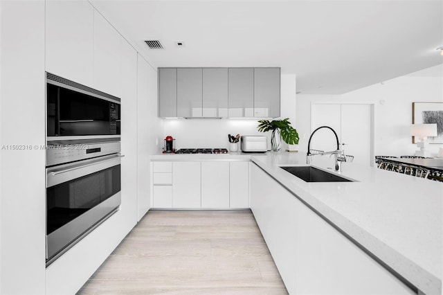
[[[229,163],[229,208],[249,208],[249,162]]]

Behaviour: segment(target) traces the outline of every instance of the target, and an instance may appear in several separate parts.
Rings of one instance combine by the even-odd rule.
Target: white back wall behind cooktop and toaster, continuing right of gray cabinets
[[[281,118],[290,118],[295,127],[296,75],[282,75],[281,109]],[[168,135],[176,138],[177,149],[228,148],[228,134],[271,136],[269,132],[258,132],[257,125],[257,120],[254,119],[165,119],[163,139]]]

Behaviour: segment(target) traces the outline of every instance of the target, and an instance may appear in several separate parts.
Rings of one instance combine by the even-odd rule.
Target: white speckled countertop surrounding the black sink
[[[443,183],[354,163],[341,175],[358,182],[307,183],[279,167],[305,166],[305,154],[251,160],[424,294],[441,294]],[[312,157],[312,166],[333,165]]]

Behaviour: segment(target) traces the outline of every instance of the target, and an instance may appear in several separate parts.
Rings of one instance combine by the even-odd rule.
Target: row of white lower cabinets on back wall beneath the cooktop
[[[152,208],[249,208],[249,161],[152,161]]]

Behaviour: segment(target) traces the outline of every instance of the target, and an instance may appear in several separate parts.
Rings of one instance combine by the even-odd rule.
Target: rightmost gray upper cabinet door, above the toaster
[[[280,116],[280,68],[254,69],[254,117]]]

